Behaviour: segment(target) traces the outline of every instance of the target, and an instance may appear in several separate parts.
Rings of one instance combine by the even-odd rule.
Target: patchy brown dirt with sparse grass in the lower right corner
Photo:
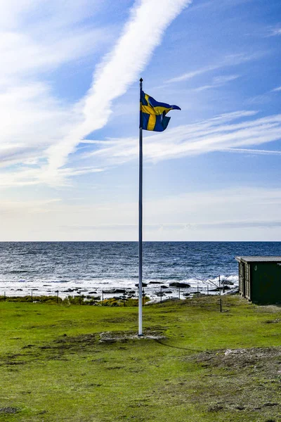
[[[208,412],[241,412],[251,415],[251,421],[280,421],[281,347],[216,350],[189,354],[183,361],[199,366],[199,371],[192,383],[184,383],[187,376],[166,385],[165,392],[173,393],[179,404],[188,397],[192,403],[200,400]]]

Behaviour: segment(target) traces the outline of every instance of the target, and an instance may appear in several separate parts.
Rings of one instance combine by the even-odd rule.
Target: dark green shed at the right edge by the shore
[[[235,257],[239,265],[239,293],[260,305],[281,303],[281,256]]]

